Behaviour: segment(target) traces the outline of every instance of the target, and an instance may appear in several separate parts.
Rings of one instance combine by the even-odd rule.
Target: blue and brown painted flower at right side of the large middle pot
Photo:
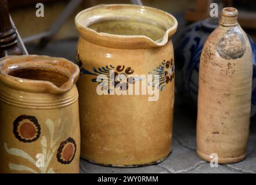
[[[152,72],[149,72],[150,75],[159,75],[159,79],[157,81],[153,80],[152,86],[155,88],[156,84],[161,91],[164,91],[165,86],[168,83],[171,83],[174,80],[174,60],[171,61],[163,61],[161,65],[157,66],[153,69]]]

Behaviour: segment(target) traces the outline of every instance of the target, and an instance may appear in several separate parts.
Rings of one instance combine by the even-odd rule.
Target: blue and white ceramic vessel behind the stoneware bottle
[[[189,25],[174,40],[175,47],[175,86],[176,91],[187,97],[189,105],[197,107],[199,86],[199,62],[204,42],[218,27],[218,18],[207,18]],[[251,117],[256,114],[256,44],[248,36],[253,49],[253,90],[251,98]]]

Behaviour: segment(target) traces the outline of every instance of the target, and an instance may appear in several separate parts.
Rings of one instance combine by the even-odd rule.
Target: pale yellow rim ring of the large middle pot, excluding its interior
[[[138,12],[146,12],[146,13],[156,13],[158,16],[162,16],[166,20],[169,20],[168,24],[171,24],[170,27],[165,27],[165,34],[161,39],[153,40],[145,35],[114,35],[107,34],[104,32],[96,32],[95,30],[88,28],[88,25],[95,21],[98,18],[102,18],[104,14],[94,14],[93,16],[83,20],[85,24],[81,23],[81,17],[86,14],[92,12],[97,9],[134,9]],[[138,14],[139,16],[139,14]],[[153,20],[151,20],[153,21]],[[163,25],[164,26],[164,25]],[[129,4],[110,4],[110,5],[97,5],[92,8],[88,8],[82,10],[80,13],[75,16],[75,27],[78,32],[80,32],[80,36],[85,40],[89,40],[98,45],[106,46],[106,47],[114,47],[120,49],[142,49],[149,47],[160,47],[164,46],[175,34],[176,29],[178,27],[178,21],[172,14],[164,12],[163,10],[159,10],[156,8],[151,8],[149,6],[140,6],[140,5],[129,5]]]

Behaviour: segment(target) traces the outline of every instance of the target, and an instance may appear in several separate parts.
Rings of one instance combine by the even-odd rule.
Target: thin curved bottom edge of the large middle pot
[[[91,162],[91,163],[96,164],[96,165],[109,166],[109,167],[117,167],[117,168],[136,168],[136,167],[149,166],[149,165],[158,164],[160,162],[163,162],[164,160],[166,160],[170,156],[171,152],[172,152],[172,150],[170,151],[170,153],[166,157],[163,157],[160,160],[157,160],[157,161],[154,161],[154,162],[150,162],[150,163],[147,163],[147,164],[134,164],[134,165],[101,164],[99,162],[96,162],[96,161],[93,161],[93,160],[89,160],[88,158],[83,157],[82,155],[80,157],[83,160]]]

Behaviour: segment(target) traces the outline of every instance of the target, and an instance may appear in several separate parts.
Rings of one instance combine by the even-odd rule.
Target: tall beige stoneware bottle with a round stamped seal
[[[197,154],[223,164],[246,157],[250,124],[253,57],[237,14],[222,10],[200,59]]]

